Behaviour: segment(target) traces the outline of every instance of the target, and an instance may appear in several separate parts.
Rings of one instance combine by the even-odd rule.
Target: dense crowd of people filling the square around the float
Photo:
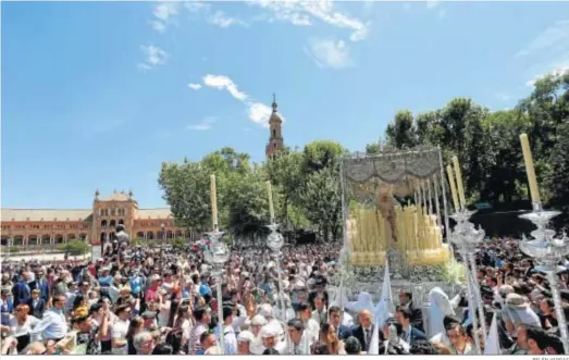
[[[194,248],[115,243],[96,261],[4,263],[1,353],[360,355],[379,346],[389,355],[469,355],[475,336],[485,347],[466,290],[433,288],[424,306],[404,289],[382,323],[368,293],[338,302],[330,278],[339,250],[339,243],[283,248],[280,289],[268,249],[233,248],[222,303],[217,276]],[[482,321],[497,324],[499,352],[564,353],[548,282],[518,241],[487,239],[479,250]],[[569,309],[566,265],[558,278]]]

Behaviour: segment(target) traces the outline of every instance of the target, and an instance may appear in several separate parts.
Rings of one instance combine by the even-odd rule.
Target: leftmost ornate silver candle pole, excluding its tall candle
[[[206,233],[206,236],[210,240],[209,248],[203,251],[203,260],[213,268],[213,278],[215,278],[215,293],[218,298],[218,325],[220,326],[220,355],[225,352],[223,343],[223,297],[221,294],[221,283],[223,282],[223,268],[224,264],[230,260],[230,248],[225,243],[222,241],[224,232],[220,232],[215,226],[213,232]]]

